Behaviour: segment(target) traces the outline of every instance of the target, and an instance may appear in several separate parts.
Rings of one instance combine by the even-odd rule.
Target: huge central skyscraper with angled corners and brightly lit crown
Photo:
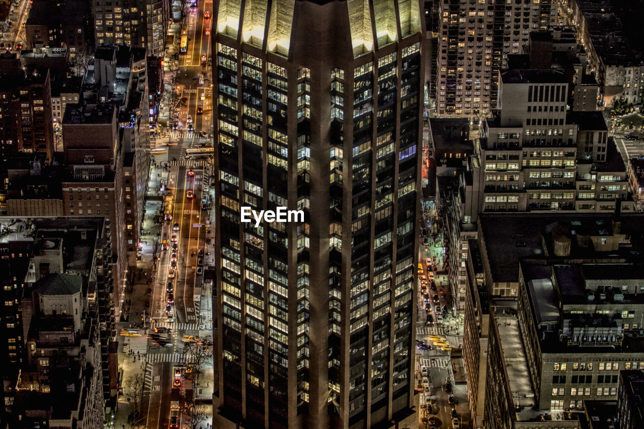
[[[420,5],[269,5],[220,1],[214,28],[216,418],[411,425]]]

